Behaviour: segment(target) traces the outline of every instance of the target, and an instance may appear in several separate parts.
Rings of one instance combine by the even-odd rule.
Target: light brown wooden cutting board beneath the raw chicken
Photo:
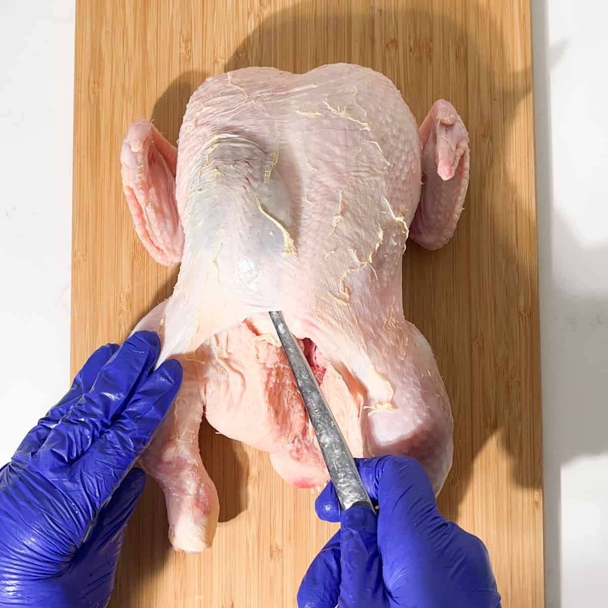
[[[529,0],[79,0],[74,120],[72,371],[120,342],[176,272],[137,240],[120,184],[137,118],[175,142],[192,91],[244,66],[370,66],[420,121],[437,98],[471,134],[454,240],[408,244],[406,317],[434,347],[455,418],[446,517],[488,546],[504,608],[544,605],[542,435]],[[201,431],[218,487],[212,550],[174,553],[153,480],[128,527],[114,608],[285,608],[336,529],[268,457]]]

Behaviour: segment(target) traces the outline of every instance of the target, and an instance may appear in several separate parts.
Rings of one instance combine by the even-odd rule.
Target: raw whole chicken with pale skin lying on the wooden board
[[[452,415],[434,355],[403,316],[408,235],[451,238],[469,178],[468,133],[440,100],[420,130],[393,83],[360,66],[247,68],[192,95],[174,148],[150,122],[120,156],[135,229],[181,263],[157,331],[184,382],[142,464],[167,500],[179,550],[209,547],[218,496],[202,416],[269,453],[299,488],[328,474],[268,317],[282,310],[355,456],[407,454],[439,492]]]

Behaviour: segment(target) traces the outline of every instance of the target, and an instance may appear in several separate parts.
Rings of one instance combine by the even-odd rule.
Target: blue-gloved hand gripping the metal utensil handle
[[[298,593],[300,608],[499,608],[482,541],[447,522],[415,460],[358,460],[378,517],[363,506],[340,514],[329,483],[320,519],[341,528],[314,559]]]

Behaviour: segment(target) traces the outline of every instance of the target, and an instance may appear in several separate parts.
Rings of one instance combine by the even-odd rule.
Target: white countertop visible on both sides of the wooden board
[[[604,606],[608,6],[532,4],[547,606]],[[0,5],[0,75],[1,464],[69,382],[72,1]]]

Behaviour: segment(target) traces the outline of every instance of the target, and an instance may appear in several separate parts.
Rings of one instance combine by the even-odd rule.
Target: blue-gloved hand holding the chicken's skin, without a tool
[[[152,373],[159,350],[151,332],[99,348],[0,469],[0,607],[108,603],[145,484],[131,467],[181,383],[177,361]]]

